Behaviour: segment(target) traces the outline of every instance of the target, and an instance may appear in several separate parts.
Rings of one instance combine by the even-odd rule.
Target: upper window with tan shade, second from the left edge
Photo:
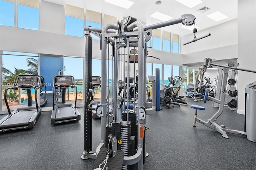
[[[39,30],[39,0],[18,0],[18,28]]]

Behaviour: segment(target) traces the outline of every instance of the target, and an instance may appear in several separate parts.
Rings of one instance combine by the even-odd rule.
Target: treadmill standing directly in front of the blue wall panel
[[[66,89],[69,87],[76,89],[75,104],[66,103]],[[62,91],[62,103],[54,105],[55,93],[54,90],[60,88]],[[80,121],[81,116],[76,108],[77,87],[75,86],[74,77],[71,75],[56,75],[53,78],[52,87],[52,116],[51,125],[70,121]]]

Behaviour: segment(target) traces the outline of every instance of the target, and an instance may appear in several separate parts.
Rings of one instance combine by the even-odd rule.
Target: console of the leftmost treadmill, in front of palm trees
[[[18,75],[15,77],[15,85],[22,87],[40,86],[39,75]]]

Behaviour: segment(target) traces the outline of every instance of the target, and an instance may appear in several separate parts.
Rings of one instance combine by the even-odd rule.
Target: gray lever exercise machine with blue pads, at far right
[[[228,71],[229,69],[235,69],[235,70],[241,70],[241,71],[248,71],[256,73],[256,71],[247,70],[247,69],[240,69],[237,67],[232,67],[233,62],[230,61],[228,64],[229,66],[223,66],[212,63],[212,59],[206,58],[204,59],[204,69],[206,70],[207,67],[211,67],[212,65],[222,67],[224,74],[222,76],[222,87],[221,87],[221,93],[220,93],[220,99],[216,99],[214,97],[210,97],[208,95],[209,89],[206,89],[205,96],[204,96],[204,103],[206,103],[207,100],[214,101],[219,104],[218,111],[210,118],[208,121],[203,121],[202,119],[197,118],[197,110],[205,110],[204,107],[198,106],[198,105],[191,105],[193,109],[196,109],[196,113],[194,115],[194,123],[193,126],[196,127],[196,122],[199,122],[209,128],[212,128],[214,130],[217,130],[222,134],[224,138],[228,138],[228,135],[226,132],[234,133],[234,134],[241,134],[241,135],[247,135],[248,140],[252,142],[256,142],[256,82],[250,83],[248,86],[246,86],[246,122],[245,127],[248,132],[243,132],[239,130],[233,130],[230,128],[226,128],[224,125],[219,125],[216,120],[217,118],[223,113],[224,103],[225,101],[229,100],[230,96],[226,95],[226,85],[228,81]]]

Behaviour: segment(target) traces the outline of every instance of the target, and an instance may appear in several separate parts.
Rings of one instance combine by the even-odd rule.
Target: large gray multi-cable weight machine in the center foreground
[[[85,77],[84,99],[84,152],[82,159],[95,159],[92,169],[119,170],[119,169],[143,169],[146,156],[146,42],[152,36],[152,30],[174,24],[191,26],[194,24],[195,16],[184,14],[176,20],[170,20],[144,26],[136,18],[128,16],[115,24],[106,24],[104,28],[85,27]],[[92,37],[90,33],[100,37],[101,50],[101,104],[97,106],[96,113],[101,119],[100,144],[96,152],[92,152],[92,109],[88,105],[92,95]],[[137,51],[134,59],[137,62],[130,62],[130,49]],[[124,57],[119,55],[124,51]],[[112,62],[112,72],[109,73],[109,63]],[[138,82],[136,96],[133,100],[133,110],[128,106],[120,107],[118,99],[118,82],[129,80],[130,63],[138,64]],[[120,69],[122,68],[122,69]],[[111,96],[108,96],[107,82],[111,81]],[[135,71],[134,71],[135,75]],[[135,76],[134,76],[135,79]],[[128,81],[127,81],[128,82]],[[127,86],[127,88],[129,88]],[[124,88],[125,89],[125,88]],[[135,88],[134,88],[135,89]],[[134,90],[135,91],[135,90]],[[127,89],[129,92],[129,89]],[[128,94],[124,91],[124,96]],[[128,99],[128,97],[127,97]],[[112,108],[111,114],[114,119],[111,121],[107,108]],[[133,135],[134,134],[134,135]],[[94,142],[95,143],[95,142]]]

